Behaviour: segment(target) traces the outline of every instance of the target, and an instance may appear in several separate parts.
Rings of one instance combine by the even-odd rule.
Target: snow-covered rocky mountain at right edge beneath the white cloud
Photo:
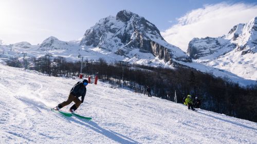
[[[257,17],[222,37],[193,38],[187,53],[197,63],[257,80]]]

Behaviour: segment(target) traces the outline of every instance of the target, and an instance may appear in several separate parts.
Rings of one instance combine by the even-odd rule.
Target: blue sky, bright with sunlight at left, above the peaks
[[[34,45],[49,36],[64,41],[74,40],[82,37],[100,18],[115,16],[123,9],[145,17],[161,32],[167,32],[179,23],[178,18],[205,6],[220,3],[256,5],[255,1],[212,0],[0,0],[0,39],[5,44],[27,41]]]

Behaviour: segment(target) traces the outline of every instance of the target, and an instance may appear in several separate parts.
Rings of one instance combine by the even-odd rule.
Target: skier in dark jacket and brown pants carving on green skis
[[[82,83],[79,81],[71,90],[69,93],[69,97],[66,101],[63,101],[61,104],[59,104],[55,110],[60,110],[61,108],[69,105],[72,101],[75,102],[73,106],[69,109],[70,112],[76,111],[81,103],[84,101],[84,97],[86,95],[86,86],[88,84],[88,81],[84,79]],[[81,100],[79,97],[81,96]]]

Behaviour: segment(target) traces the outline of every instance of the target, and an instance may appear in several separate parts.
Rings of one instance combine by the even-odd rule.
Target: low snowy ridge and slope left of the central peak
[[[25,42],[21,42],[25,45]],[[21,44],[19,43],[19,44]],[[26,42],[27,43],[27,42]],[[12,48],[12,51],[10,49]],[[2,49],[4,49],[4,54]],[[90,47],[90,46],[80,46],[77,42],[64,42],[57,39],[56,37],[50,36],[46,38],[40,45],[26,45],[26,47],[21,47],[19,45],[8,45],[2,46],[0,50],[0,63],[4,63],[7,59],[19,58],[23,60],[23,54],[27,53],[25,58],[29,60],[31,57],[41,57],[45,56],[47,53],[52,54],[53,57],[62,56],[67,60],[76,61],[80,60],[78,55],[81,54],[88,59],[99,59],[104,58],[107,61],[122,60],[124,57],[118,56],[114,53],[108,51]]]

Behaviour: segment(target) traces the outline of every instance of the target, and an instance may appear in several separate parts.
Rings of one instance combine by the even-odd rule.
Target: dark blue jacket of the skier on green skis
[[[83,102],[86,95],[86,87],[81,82],[79,82],[70,90],[70,94],[76,97],[81,96],[81,101]]]

